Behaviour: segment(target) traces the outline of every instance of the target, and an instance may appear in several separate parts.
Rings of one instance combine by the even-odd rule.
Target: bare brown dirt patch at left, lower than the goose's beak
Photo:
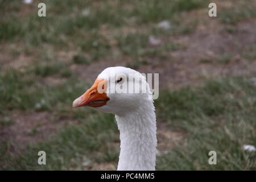
[[[0,142],[11,141],[10,150],[14,153],[27,144],[49,139],[61,126],[74,122],[69,118],[56,120],[55,114],[49,111],[11,111],[9,115],[11,124],[0,126]]]

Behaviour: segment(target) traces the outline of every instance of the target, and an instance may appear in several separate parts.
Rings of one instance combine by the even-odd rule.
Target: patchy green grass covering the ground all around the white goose
[[[197,15],[207,14],[208,1],[43,1],[47,18],[37,16],[38,2],[0,0],[0,169],[116,169],[119,133],[114,116],[89,108],[71,109],[72,101],[93,81],[85,81],[74,67],[106,60],[106,67],[122,63],[142,70],[164,68],[175,59],[170,52],[182,53],[187,46],[177,39],[170,41],[170,36],[185,38],[202,24],[210,27],[204,16]],[[233,35],[239,23],[255,18],[256,3],[226,2],[220,4],[214,23]],[[171,28],[157,28],[162,20],[171,22]],[[150,46],[149,36],[163,41]],[[246,63],[254,63],[255,45],[239,52]],[[198,60],[215,68],[234,57],[233,52],[225,52]],[[183,138],[159,149],[156,169],[255,170],[255,152],[242,148],[256,144],[256,86],[251,81],[255,76],[230,74],[178,89],[162,86],[155,101],[158,126]],[[18,125],[17,118],[43,112],[51,116],[47,122],[53,126],[68,122],[40,140],[15,143],[15,133],[8,129]],[[39,138],[44,132],[40,127],[29,127],[21,137]],[[161,133],[159,127],[158,138]],[[45,166],[37,163],[40,150],[47,154]],[[217,152],[217,165],[208,163],[211,150]]]

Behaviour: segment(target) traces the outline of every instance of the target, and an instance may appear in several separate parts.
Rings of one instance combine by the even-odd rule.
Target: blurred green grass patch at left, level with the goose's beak
[[[46,73],[51,72],[51,69]],[[43,72],[43,76],[44,74]],[[40,82],[39,78],[36,79],[34,74],[14,69],[4,75],[1,74],[0,85],[1,113],[13,109],[36,109],[36,103],[41,102],[42,104],[37,109],[53,109],[52,105],[56,102],[69,105],[73,101],[72,94],[79,95],[85,88],[85,85],[74,77],[70,77],[64,84],[49,86]]]

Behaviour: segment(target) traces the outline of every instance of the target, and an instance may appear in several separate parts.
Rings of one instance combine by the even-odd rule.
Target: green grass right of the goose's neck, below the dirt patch
[[[159,117],[187,138],[159,158],[158,169],[255,170],[255,153],[242,149],[256,141],[255,88],[247,78],[234,77],[162,93]],[[217,152],[216,166],[207,164],[211,150]]]

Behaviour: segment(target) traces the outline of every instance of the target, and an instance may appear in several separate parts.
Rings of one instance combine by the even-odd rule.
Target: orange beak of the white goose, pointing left
[[[109,97],[106,95],[106,92],[104,92],[104,88],[106,88],[106,82],[107,81],[102,78],[97,78],[92,87],[73,102],[73,107],[104,106],[109,101]]]

